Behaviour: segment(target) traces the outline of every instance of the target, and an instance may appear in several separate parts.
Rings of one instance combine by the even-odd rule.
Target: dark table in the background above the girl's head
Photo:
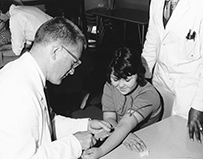
[[[114,20],[120,20],[124,22],[124,45],[126,39],[126,23],[135,23],[138,25],[138,33],[140,43],[143,45],[145,38],[145,26],[148,24],[149,15],[148,11],[130,9],[130,8],[119,8],[114,10],[106,10],[104,8],[93,8],[88,10],[97,17],[97,26],[100,17],[105,17]],[[97,27],[98,28],[98,27]]]

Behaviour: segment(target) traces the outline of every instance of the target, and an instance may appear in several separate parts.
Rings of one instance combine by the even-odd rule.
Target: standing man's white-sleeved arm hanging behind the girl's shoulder
[[[158,48],[159,38],[160,38],[155,25],[156,19],[154,18],[154,15],[153,15],[156,9],[155,7],[153,7],[154,3],[156,3],[156,1],[151,1],[150,10],[149,10],[149,25],[148,25],[148,30],[146,34],[146,40],[144,43],[144,48],[142,51],[142,57],[144,57],[144,60],[146,60],[146,62],[144,62],[143,65],[146,68],[145,76],[147,78],[151,78],[151,75],[152,75],[152,69],[155,65],[156,56],[157,56],[156,49]]]

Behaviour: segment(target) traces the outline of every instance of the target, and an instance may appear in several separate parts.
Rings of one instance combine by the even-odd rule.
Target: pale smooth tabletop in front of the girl
[[[120,145],[102,159],[202,159],[203,143],[188,137],[187,120],[171,116],[136,133],[147,145],[149,155],[129,151]]]

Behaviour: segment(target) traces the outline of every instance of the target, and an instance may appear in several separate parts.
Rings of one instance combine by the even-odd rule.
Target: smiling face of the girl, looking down
[[[123,95],[127,95],[137,86],[137,74],[128,76],[127,79],[121,78],[118,80],[117,77],[111,73],[110,78],[111,84]]]

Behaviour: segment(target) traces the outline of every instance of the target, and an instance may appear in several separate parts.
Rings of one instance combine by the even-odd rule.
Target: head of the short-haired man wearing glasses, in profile
[[[86,39],[81,30],[68,19],[55,17],[37,30],[30,53],[46,80],[60,84],[81,63],[84,48]]]

